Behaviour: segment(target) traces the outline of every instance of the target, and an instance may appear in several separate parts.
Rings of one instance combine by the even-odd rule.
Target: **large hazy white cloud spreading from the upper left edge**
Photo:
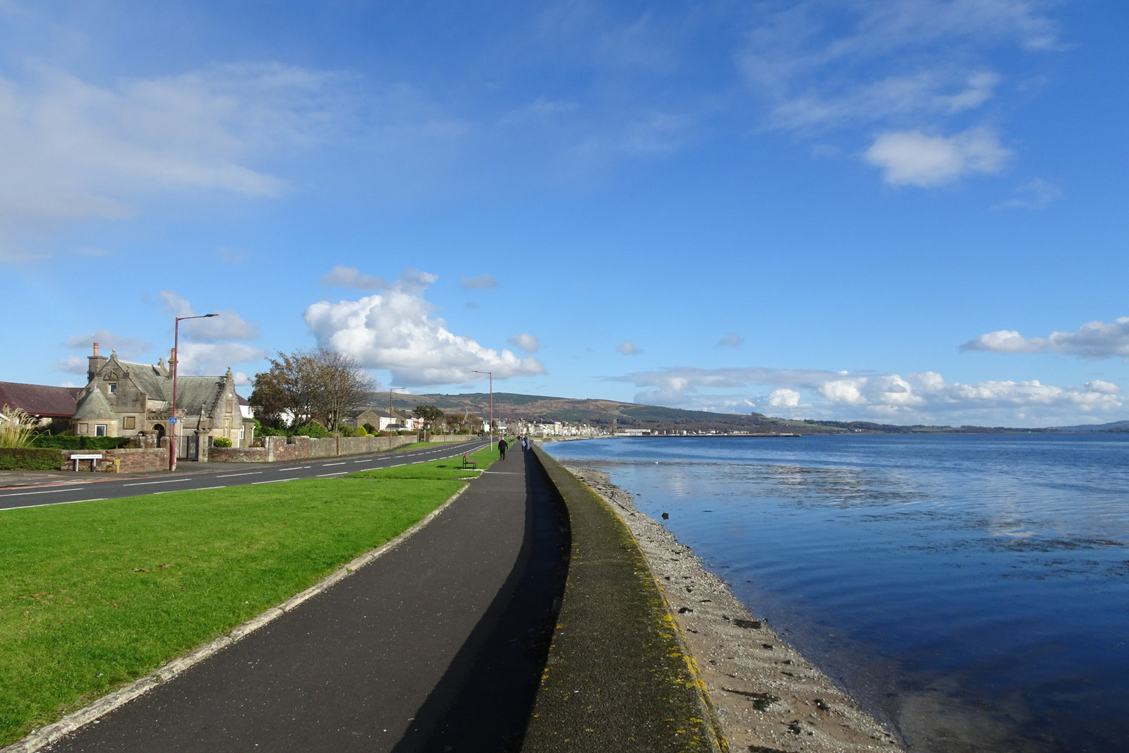
[[[121,220],[143,200],[190,191],[277,196],[253,163],[323,140],[344,77],[280,63],[229,64],[99,86],[37,69],[0,76],[0,221],[17,229]],[[0,256],[16,257],[16,247]]]

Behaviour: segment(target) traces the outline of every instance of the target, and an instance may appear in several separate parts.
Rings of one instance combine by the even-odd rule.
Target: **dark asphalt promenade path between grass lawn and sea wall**
[[[558,500],[510,452],[397,548],[47,750],[519,750],[567,573]]]

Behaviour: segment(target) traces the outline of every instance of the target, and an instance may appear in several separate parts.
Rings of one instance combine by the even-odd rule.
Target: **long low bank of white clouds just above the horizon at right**
[[[1078,413],[1117,415],[1126,408],[1121,388],[1103,380],[1082,387],[1039,380],[948,383],[936,371],[850,374],[843,371],[677,367],[616,377],[644,388],[636,401],[679,408],[756,410],[807,418],[879,420],[895,423],[999,426],[1017,414],[1030,426],[1075,422]],[[768,388],[767,394],[761,392]],[[1032,422],[1036,423],[1032,423]],[[1041,423],[1040,423],[1041,421]]]

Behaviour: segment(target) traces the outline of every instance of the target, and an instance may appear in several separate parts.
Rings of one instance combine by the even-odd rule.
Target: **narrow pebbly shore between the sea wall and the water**
[[[568,469],[624,520],[647,557],[709,689],[730,751],[904,751],[800,654],[753,616],[690,548],[634,508],[607,474]]]

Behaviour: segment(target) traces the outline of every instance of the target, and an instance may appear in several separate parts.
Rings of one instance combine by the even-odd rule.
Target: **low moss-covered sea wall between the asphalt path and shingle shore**
[[[542,449],[571,553],[524,752],[727,751],[639,544],[596,492]]]

